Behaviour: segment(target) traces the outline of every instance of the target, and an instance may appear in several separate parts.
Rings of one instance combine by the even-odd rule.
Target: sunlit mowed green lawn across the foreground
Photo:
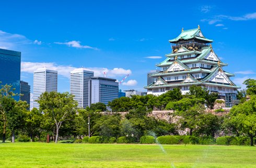
[[[256,147],[0,144],[0,167],[256,167]]]

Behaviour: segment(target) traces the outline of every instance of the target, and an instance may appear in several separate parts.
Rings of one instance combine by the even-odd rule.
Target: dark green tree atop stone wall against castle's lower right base
[[[215,92],[210,93],[210,90],[207,90],[205,87],[203,88],[201,86],[195,86],[195,85],[190,86],[189,91],[190,91],[190,95],[194,95],[195,98],[198,98],[198,99],[204,98],[205,105],[209,109],[214,108],[214,102],[218,98],[218,93],[215,93]]]

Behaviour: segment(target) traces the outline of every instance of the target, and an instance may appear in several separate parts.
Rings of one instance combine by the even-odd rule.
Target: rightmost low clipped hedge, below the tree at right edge
[[[250,145],[250,138],[246,137],[233,137],[223,136],[218,137],[216,140],[217,145]]]

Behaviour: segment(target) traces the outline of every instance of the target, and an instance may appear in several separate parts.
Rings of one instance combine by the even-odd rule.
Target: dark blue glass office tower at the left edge
[[[20,52],[0,48],[0,85],[13,85],[15,94],[20,94],[20,59]],[[19,101],[19,96],[14,99]]]

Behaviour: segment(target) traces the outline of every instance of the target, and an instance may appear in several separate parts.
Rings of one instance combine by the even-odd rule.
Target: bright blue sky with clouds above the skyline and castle
[[[200,24],[215,53],[236,73],[237,85],[256,79],[256,2],[235,1],[2,1],[0,48],[21,51],[21,80],[33,70],[59,71],[58,91],[69,92],[69,71],[122,79],[120,88],[145,91],[146,74],[171,53],[168,40]],[[155,58],[155,59],[153,59]],[[32,93],[32,89],[31,89]]]

